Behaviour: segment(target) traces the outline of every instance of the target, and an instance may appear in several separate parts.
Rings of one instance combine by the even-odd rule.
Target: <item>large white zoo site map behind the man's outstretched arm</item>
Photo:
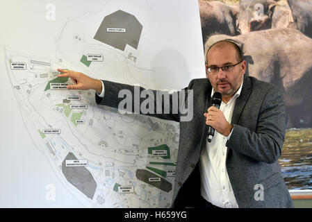
[[[197,1],[10,1],[0,16],[0,207],[170,207],[179,124],[99,106],[57,68],[186,87],[205,76]]]

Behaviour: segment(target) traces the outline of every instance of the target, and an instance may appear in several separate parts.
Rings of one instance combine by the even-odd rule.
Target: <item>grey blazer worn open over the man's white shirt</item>
[[[97,104],[117,108],[121,89],[133,92],[133,86],[104,80],[104,99]],[[140,87],[140,90],[143,88]],[[191,121],[180,121],[181,114],[148,114],[161,119],[180,121],[179,153],[172,207],[199,207],[199,155],[206,144],[207,126],[204,112],[211,104],[211,83],[207,78],[190,81],[194,112]],[[154,98],[156,98],[156,91]],[[172,96],[170,96],[170,101]],[[134,100],[133,100],[134,101]],[[140,102],[142,102],[141,99]],[[179,101],[181,102],[181,101]],[[156,103],[155,103],[156,104]],[[133,107],[133,105],[132,105]],[[156,105],[154,106],[156,108]],[[128,110],[133,112],[132,110]],[[243,89],[233,110],[234,128],[227,141],[226,167],[239,207],[293,207],[281,175],[279,157],[284,143],[286,114],[279,89],[270,83],[245,76]],[[255,198],[263,187],[263,198]]]

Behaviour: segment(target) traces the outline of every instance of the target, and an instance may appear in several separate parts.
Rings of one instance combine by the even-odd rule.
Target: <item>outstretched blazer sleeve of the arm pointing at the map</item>
[[[180,121],[181,116],[186,114],[183,112],[183,107],[188,105],[192,97],[190,95],[192,90],[188,89],[192,86],[192,81],[188,87],[172,94],[167,91],[145,89],[108,80],[102,80],[102,82],[105,86],[104,98],[95,94],[97,104],[160,119]]]

